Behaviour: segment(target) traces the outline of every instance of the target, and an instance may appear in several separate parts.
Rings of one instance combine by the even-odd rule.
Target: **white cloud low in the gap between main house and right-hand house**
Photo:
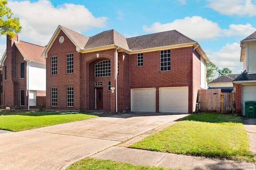
[[[229,68],[233,74],[240,74],[243,71],[243,63],[240,60],[240,44],[227,43],[220,51],[210,52],[207,56],[219,69]]]

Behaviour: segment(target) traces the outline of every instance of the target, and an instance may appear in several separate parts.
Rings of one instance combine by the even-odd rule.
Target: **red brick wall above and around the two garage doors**
[[[160,71],[160,51],[143,53],[143,66],[139,67],[137,66],[137,54],[132,54],[130,57],[130,88],[156,88],[156,112],[159,112],[159,87],[188,87],[188,111],[192,112],[193,96],[197,96],[197,91],[193,95],[193,47],[171,49],[170,53],[170,71]],[[198,57],[194,58],[194,62],[198,63]],[[197,71],[200,73],[200,67],[194,68],[194,72]]]

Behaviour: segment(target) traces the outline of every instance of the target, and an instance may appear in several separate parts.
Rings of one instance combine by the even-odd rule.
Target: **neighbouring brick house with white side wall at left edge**
[[[1,105],[30,109],[46,99],[45,47],[7,37],[1,65]],[[29,96],[29,98],[28,98]]]

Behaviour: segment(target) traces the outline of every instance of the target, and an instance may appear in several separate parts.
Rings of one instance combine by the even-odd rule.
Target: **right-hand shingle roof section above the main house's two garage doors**
[[[131,50],[148,49],[193,42],[195,41],[188,38],[187,36],[184,36],[176,30],[127,38],[127,43]]]

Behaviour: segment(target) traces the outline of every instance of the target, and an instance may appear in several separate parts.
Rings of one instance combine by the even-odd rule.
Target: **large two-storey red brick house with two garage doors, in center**
[[[176,30],[124,38],[92,37],[58,26],[46,58],[46,108],[111,112],[195,111],[206,89],[208,57]]]

